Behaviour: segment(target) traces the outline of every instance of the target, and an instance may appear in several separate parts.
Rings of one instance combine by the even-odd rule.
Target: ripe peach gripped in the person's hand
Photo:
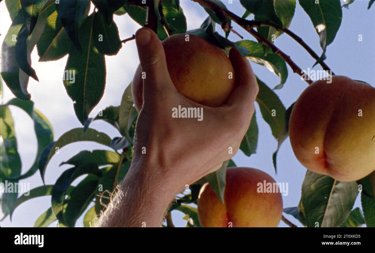
[[[175,34],[162,42],[174,86],[185,97],[202,105],[222,105],[234,87],[231,61],[220,48],[207,40],[189,34],[189,41],[186,41],[185,35]],[[138,112],[142,108],[142,93],[142,71],[138,66],[132,85]]]

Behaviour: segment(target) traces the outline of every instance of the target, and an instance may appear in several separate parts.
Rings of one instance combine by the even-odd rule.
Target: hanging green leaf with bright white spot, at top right
[[[323,54],[326,47],[333,42],[342,19],[340,0],[299,0],[300,5],[309,15],[320,38]]]

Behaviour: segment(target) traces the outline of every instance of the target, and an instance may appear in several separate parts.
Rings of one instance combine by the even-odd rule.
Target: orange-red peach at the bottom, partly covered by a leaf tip
[[[282,197],[277,192],[261,192],[264,183],[275,180],[253,168],[228,168],[224,205],[211,186],[202,186],[198,198],[198,218],[202,227],[276,227],[282,217]],[[274,186],[275,186],[274,185]],[[259,192],[258,192],[259,191]],[[230,223],[231,222],[231,223]]]

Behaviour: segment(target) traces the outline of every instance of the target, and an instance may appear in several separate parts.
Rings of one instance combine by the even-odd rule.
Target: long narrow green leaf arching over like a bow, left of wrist
[[[45,155],[42,155],[39,161],[39,170],[40,175],[42,175],[43,183],[45,169],[48,165],[49,160],[51,160],[52,156],[54,156],[54,154],[57,153],[65,145],[78,141],[93,141],[99,144],[106,145],[108,147],[111,144],[111,138],[108,135],[102,132],[98,132],[94,129],[87,129],[86,132],[83,132],[82,127],[69,130],[68,132],[60,136],[60,138],[58,138],[56,142],[52,142],[53,144],[50,144],[43,151]]]

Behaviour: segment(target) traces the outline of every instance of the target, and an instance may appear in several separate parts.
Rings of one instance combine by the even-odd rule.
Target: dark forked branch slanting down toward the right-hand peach
[[[225,16],[232,19],[234,22],[236,22],[238,25],[240,25],[242,28],[244,28],[246,31],[248,31],[250,34],[252,34],[258,40],[259,43],[267,45],[269,48],[272,49],[273,52],[279,54],[292,67],[294,73],[296,73],[296,71],[299,71],[300,68],[292,60],[290,60],[290,57],[287,54],[285,54],[280,49],[278,49],[276,46],[274,46],[272,43],[270,43],[260,33],[257,33],[253,29],[253,27],[272,26],[272,27],[275,27],[276,30],[282,30],[286,34],[291,36],[294,40],[296,40],[303,48],[305,48],[306,51],[308,51],[309,54],[315,60],[318,60],[318,58],[319,58],[319,56],[299,36],[297,36],[295,33],[293,33],[292,31],[290,31],[289,29],[287,29],[285,27],[280,27],[280,26],[274,24],[273,22],[271,22],[269,20],[258,21],[258,20],[247,20],[247,19],[240,18],[239,16],[237,16],[236,14],[231,12],[230,10],[224,9],[221,6],[217,5],[216,3],[213,3],[212,1],[207,1],[207,0],[192,0],[192,1],[195,1],[199,4],[202,4],[202,5],[210,8],[210,9],[212,9],[215,12],[216,16],[217,16],[217,13],[216,13],[215,10],[220,9],[219,13],[224,13]],[[219,18],[219,16],[217,16],[217,17]],[[267,40],[269,43],[267,43],[265,40]],[[271,46],[271,45],[273,45],[273,46]],[[286,58],[284,58],[284,57],[286,57]],[[324,63],[324,61],[321,61],[320,65],[323,67],[324,70],[331,70],[330,67],[328,67],[327,64]],[[299,72],[299,74],[302,76],[303,73]],[[306,80],[306,82],[308,82],[308,81]],[[308,83],[311,83],[311,82],[308,82]]]

